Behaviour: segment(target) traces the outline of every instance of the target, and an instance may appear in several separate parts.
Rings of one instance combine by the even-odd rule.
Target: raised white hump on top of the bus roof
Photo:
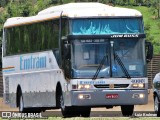
[[[142,14],[134,9],[112,7],[102,3],[68,3],[64,5],[53,6],[42,10],[38,15],[62,12],[68,17],[84,16],[141,16]]]

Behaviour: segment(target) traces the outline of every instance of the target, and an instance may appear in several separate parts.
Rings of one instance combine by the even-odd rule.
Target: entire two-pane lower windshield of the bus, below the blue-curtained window
[[[130,77],[146,76],[145,49],[142,47],[144,39],[112,39],[112,41],[113,52],[109,39],[73,40],[72,77],[93,78],[99,65],[102,67],[97,78],[127,77],[122,64]],[[119,64],[114,53],[118,55],[122,64]]]

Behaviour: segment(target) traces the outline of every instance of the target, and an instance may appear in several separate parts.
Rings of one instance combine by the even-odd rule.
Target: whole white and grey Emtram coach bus
[[[148,102],[153,47],[137,10],[68,3],[9,18],[2,51],[4,101],[20,112],[89,117],[91,108],[120,106],[130,116]]]

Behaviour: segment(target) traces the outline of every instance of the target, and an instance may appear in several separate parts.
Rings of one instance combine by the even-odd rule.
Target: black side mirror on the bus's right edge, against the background
[[[146,42],[146,61],[147,63],[153,58],[153,45],[151,42]]]

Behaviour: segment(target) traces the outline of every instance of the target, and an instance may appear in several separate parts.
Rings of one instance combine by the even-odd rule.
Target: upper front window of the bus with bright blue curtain
[[[72,35],[144,33],[141,18],[86,18],[71,20]]]

